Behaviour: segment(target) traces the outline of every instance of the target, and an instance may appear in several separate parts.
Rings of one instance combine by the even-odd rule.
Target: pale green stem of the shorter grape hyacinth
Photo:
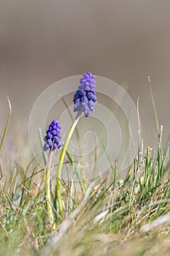
[[[54,230],[55,222],[53,217],[53,209],[52,209],[51,196],[50,196],[50,169],[51,169],[52,158],[53,158],[53,151],[50,150],[49,157],[47,159],[47,165],[45,168],[45,196],[46,196],[47,213],[50,219],[50,226],[52,230]]]

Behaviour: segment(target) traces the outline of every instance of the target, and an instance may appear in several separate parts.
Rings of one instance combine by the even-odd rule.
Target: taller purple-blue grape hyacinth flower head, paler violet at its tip
[[[85,117],[89,116],[90,111],[95,110],[96,97],[96,80],[95,75],[90,72],[84,73],[83,78],[80,79],[80,86],[78,86],[74,94],[74,112],[78,112],[77,116],[85,113]]]

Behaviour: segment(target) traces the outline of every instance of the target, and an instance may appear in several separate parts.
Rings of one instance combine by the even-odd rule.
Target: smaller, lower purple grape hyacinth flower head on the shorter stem
[[[56,148],[62,148],[61,144],[61,124],[57,120],[53,120],[50,124],[49,128],[47,129],[47,135],[45,135],[45,145],[43,147],[44,151],[47,151],[48,148],[52,149],[53,151]]]

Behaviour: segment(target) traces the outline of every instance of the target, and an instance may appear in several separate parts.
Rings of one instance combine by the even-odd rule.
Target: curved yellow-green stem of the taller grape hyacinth
[[[66,149],[67,149],[67,147],[69,145],[70,139],[72,138],[72,134],[74,132],[75,127],[77,126],[79,118],[80,118],[80,116],[74,119],[72,127],[70,128],[69,133],[66,136],[66,140],[65,140],[65,142],[63,144],[63,148],[61,150],[60,159],[59,159],[59,162],[58,162],[57,184],[56,184],[56,198],[58,200],[58,208],[59,208],[59,211],[60,211],[62,219],[64,219],[65,214],[64,214],[63,205],[62,205],[62,202],[61,202],[61,170],[62,170],[62,165],[63,165],[63,159],[64,159],[64,156],[66,154]]]

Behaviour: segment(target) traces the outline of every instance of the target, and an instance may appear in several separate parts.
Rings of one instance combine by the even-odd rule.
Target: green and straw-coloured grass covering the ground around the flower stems
[[[61,180],[66,219],[53,209],[52,237],[45,170],[35,159],[26,170],[16,165],[8,180],[0,179],[0,255],[169,255],[170,136],[163,151],[161,131],[157,151],[141,143],[122,181],[113,166],[112,178]]]

